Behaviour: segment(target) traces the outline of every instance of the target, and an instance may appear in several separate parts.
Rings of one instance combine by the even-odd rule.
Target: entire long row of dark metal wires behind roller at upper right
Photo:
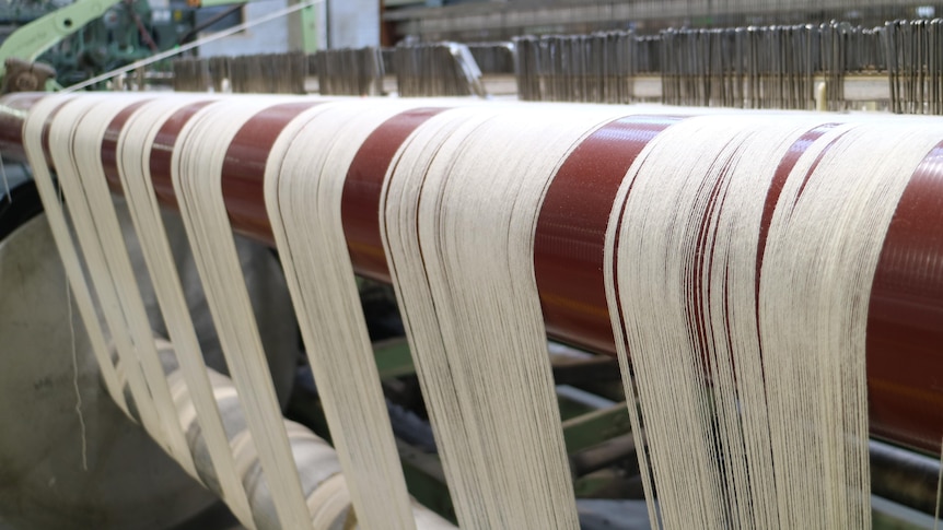
[[[519,94],[527,101],[632,103],[638,75],[661,79],[661,102],[738,108],[846,110],[849,74],[886,75],[889,110],[943,114],[943,20],[519,37]]]

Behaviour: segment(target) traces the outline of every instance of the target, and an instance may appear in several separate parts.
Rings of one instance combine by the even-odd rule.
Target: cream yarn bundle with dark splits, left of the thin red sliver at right
[[[699,295],[694,292],[696,285],[688,285],[685,280],[692,274],[692,260],[698,256],[707,256],[708,260],[713,257],[719,266],[723,266],[723,256],[717,256],[723,246],[715,247],[714,252],[698,252],[697,244],[705,234],[713,234],[723,244],[724,235],[736,235],[738,226],[732,221],[749,219],[749,215],[759,219],[761,208],[744,214],[743,205],[732,193],[736,188],[732,189],[731,180],[744,180],[746,186],[740,186],[748,192],[768,188],[776,162],[789,148],[791,138],[801,134],[804,128],[800,126],[798,131],[784,129],[783,132],[789,134],[779,134],[780,130],[766,127],[761,119],[755,117],[732,120],[689,118],[650,143],[629,170],[620,190],[619,199],[628,199],[628,202],[625,216],[613,221],[622,226],[619,266],[621,270],[622,257],[629,256],[636,270],[631,278],[619,283],[618,294],[624,301],[621,307],[628,337],[621,337],[621,327],[616,328],[617,344],[620,345],[624,364],[627,362],[627,340],[629,351],[639,352],[631,362],[635,386],[627,366],[624,378],[627,393],[635,394],[638,389],[641,394],[639,401],[645,417],[645,441],[652,447],[651,467],[659,484],[659,500],[666,527],[675,528],[682,523],[676,519],[682,510],[686,511],[686,523],[707,527],[753,528],[769,519],[749,506],[754,497],[756,510],[760,511],[768,504],[764,497],[769,499],[770,496],[761,487],[757,491],[749,487],[747,467],[749,473],[757,476],[769,469],[769,462],[764,461],[761,450],[745,461],[744,448],[749,445],[740,432],[735,411],[737,394],[746,389],[733,387],[733,366],[730,363],[733,352],[725,351],[725,341],[719,341],[715,345],[724,348],[719,348],[721,351],[717,356],[709,357],[715,398],[711,399],[702,388],[706,375],[699,366],[697,331],[691,330],[691,304],[692,299],[700,299],[705,316],[722,320],[725,317],[723,301],[720,301],[721,310],[715,311],[719,315],[711,311],[715,302],[706,286],[712,285],[714,294],[720,291],[723,296],[724,290],[717,288],[723,286],[723,279],[720,285],[713,285],[708,282],[710,278],[701,278],[705,287]],[[678,156],[677,145],[683,142],[697,145],[697,149],[689,156]],[[750,153],[750,156],[744,158],[745,153]],[[632,192],[626,197],[629,186]],[[616,204],[621,204],[619,199]],[[734,219],[721,216],[720,212],[724,210],[719,204],[738,215]],[[621,211],[617,210],[617,213]],[[707,232],[701,226],[702,222],[707,223]],[[613,238],[610,232],[609,245]],[[749,256],[755,261],[755,245]],[[606,262],[612,262],[610,255]],[[706,267],[706,270],[725,269]],[[736,274],[737,271],[731,273]],[[755,278],[748,268],[743,275]],[[618,315],[617,310],[610,311]],[[755,322],[753,328],[755,330]],[[657,330],[661,337],[644,337],[651,329]],[[707,341],[714,339],[710,328],[705,334]],[[755,352],[756,348],[752,346],[755,344],[747,344],[743,353]],[[740,369],[744,365],[748,363],[737,362]],[[750,384],[755,379],[741,377],[740,382]],[[674,391],[668,393],[662,389]],[[665,409],[672,412],[665,414]],[[711,410],[718,412],[715,421],[708,415]],[[630,412],[635,413],[632,408]],[[685,436],[679,436],[682,433]],[[717,452],[718,447],[726,451],[725,472],[718,466],[721,456]],[[686,455],[686,458],[679,455]],[[650,486],[648,491],[651,492]],[[726,495],[726,492],[731,494]],[[650,516],[654,517],[654,514],[653,506],[650,506]],[[655,523],[654,520],[652,522]]]

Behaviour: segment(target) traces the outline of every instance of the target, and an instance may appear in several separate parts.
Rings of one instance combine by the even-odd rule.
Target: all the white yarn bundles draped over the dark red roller
[[[168,390],[101,165],[105,128],[138,97],[72,97],[36,104],[24,148],[119,407],[127,412],[123,375],[96,307],[143,426],[197,476],[183,431],[195,415],[223,496],[244,525],[254,521],[240,467],[257,452],[284,528],[335,525],[350,502],[364,528],[442,526],[409,503],[340,219],[359,148],[416,103],[315,106],[283,130],[267,164],[267,210],[346,475],[305,499],[221,192],[234,134],[288,99],[211,104],[184,127],[173,154],[174,188],[251,432],[230,447],[150,182],[158,130],[196,99],[144,104],[117,153],[190,410]],[[53,113],[50,155],[95,297],[43,155]],[[380,215],[387,262],[456,513],[468,528],[578,525],[534,280],[534,231],[560,164],[626,114],[445,110],[409,137],[386,175]],[[870,527],[871,282],[900,195],[943,128],[855,118],[812,142],[777,201],[757,293],[767,190],[787,150],[822,122],[683,120],[649,143],[619,190],[605,280],[624,384],[640,404],[629,411],[653,526]],[[236,461],[233,451],[252,458]]]

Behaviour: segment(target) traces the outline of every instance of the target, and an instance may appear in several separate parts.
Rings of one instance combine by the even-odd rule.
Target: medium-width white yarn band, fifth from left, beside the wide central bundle
[[[279,136],[266,205],[331,438],[364,528],[415,528],[340,216],[366,137],[405,107],[319,105]]]

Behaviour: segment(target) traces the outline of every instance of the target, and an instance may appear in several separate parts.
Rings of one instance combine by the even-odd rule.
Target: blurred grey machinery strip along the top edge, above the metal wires
[[[392,33],[423,40],[505,40],[519,35],[589,34],[667,27],[710,28],[769,24],[820,24],[834,20],[873,26],[888,20],[933,17],[939,5],[924,1],[823,0],[815,3],[731,0],[727,2],[477,2],[387,1],[383,20]]]

